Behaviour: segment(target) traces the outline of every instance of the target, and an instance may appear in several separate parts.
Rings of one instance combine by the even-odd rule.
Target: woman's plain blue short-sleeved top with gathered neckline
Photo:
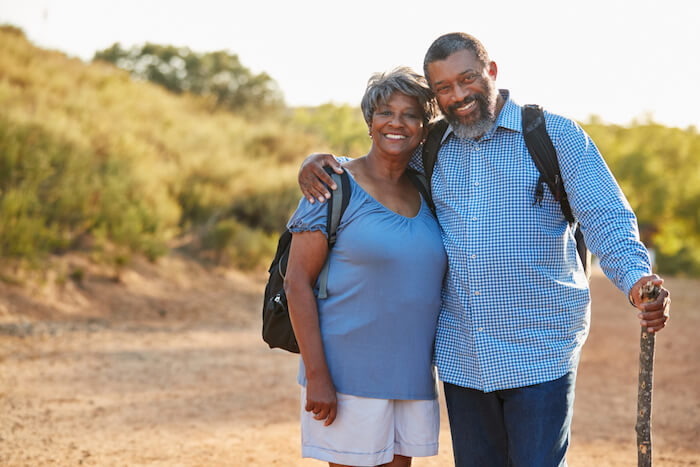
[[[333,384],[361,397],[434,399],[433,344],[447,266],[440,227],[422,199],[418,214],[405,217],[352,175],[350,186],[329,251],[328,298],[317,299]],[[327,212],[328,203],[302,198],[287,227],[327,235]],[[298,381],[306,385],[303,360]]]

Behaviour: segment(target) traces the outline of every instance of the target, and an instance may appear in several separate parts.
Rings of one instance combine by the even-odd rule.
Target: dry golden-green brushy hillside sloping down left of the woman
[[[283,117],[216,111],[7,26],[0,108],[0,256],[10,258],[89,245],[123,262],[189,238],[217,262],[255,266],[298,199],[300,158],[326,147]]]

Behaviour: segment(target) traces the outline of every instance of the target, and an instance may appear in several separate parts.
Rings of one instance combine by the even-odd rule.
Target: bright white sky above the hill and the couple
[[[420,71],[435,38],[465,31],[520,103],[682,128],[700,128],[699,19],[695,0],[0,0],[0,23],[85,60],[114,42],[227,49],[293,106],[359,105],[371,73]]]

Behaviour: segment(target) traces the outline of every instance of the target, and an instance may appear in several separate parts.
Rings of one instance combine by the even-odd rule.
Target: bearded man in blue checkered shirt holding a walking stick
[[[590,322],[572,226],[548,189],[534,203],[539,172],[523,140],[521,108],[497,90],[498,68],[483,45],[464,33],[441,36],[426,53],[424,72],[450,124],[432,176],[449,259],[434,362],[455,463],[566,465]],[[545,123],[586,245],[639,309],[641,325],[663,329],[670,294],[662,288],[656,301],[640,303],[643,284],[663,281],[651,274],[615,179],[579,125],[549,113]],[[340,170],[329,155],[310,157],[300,172],[307,198],[327,196],[315,175],[321,165]],[[413,165],[422,169],[420,154]]]

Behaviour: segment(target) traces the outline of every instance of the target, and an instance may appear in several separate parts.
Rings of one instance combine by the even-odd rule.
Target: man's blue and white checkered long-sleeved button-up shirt
[[[572,227],[539,172],[521,108],[505,105],[481,139],[448,130],[432,177],[449,259],[434,362],[440,379],[482,391],[554,380],[575,368],[588,335],[590,295]],[[625,294],[650,274],[637,221],[590,137],[545,113],[564,186],[588,248]],[[411,165],[422,170],[420,154]]]

